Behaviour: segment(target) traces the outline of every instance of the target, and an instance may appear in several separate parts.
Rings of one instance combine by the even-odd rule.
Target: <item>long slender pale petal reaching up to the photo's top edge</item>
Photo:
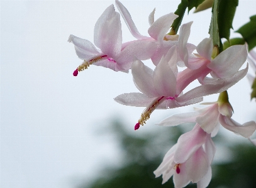
[[[125,20],[125,23],[131,32],[131,35],[133,35],[137,39],[148,38],[148,36],[143,36],[140,34],[140,32],[138,31],[138,29],[136,28],[136,26],[133,22],[133,19],[131,19],[131,14],[125,8],[125,6],[123,6],[123,4],[120,3],[120,1],[118,1],[118,0],[116,0],[116,7],[118,8],[123,19]]]

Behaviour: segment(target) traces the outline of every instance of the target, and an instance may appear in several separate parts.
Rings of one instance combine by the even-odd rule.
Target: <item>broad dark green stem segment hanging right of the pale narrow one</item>
[[[230,29],[233,29],[232,22],[235,11],[238,6],[238,0],[221,0],[218,8],[218,26],[220,38],[230,40]]]

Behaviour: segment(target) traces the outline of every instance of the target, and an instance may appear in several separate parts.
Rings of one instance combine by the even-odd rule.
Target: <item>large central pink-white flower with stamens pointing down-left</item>
[[[114,98],[120,104],[147,107],[143,111],[138,123],[135,124],[135,130],[150,118],[150,114],[155,109],[177,108],[200,102],[203,100],[202,96],[225,91],[247,74],[248,65],[246,69],[238,71],[229,78],[211,80],[209,84],[198,86],[182,95],[183,89],[193,80],[205,77],[205,72],[209,73],[211,69],[207,67],[208,64],[204,64],[199,69],[185,69],[178,74],[177,53],[175,52],[176,47],[173,46],[167,55],[162,57],[154,71],[145,66],[140,60],[135,60],[131,66],[131,73],[133,74],[135,86],[143,94],[126,93]],[[213,63],[216,64],[216,62]],[[221,61],[219,60],[218,63],[220,64]],[[241,63],[239,62],[239,64]]]

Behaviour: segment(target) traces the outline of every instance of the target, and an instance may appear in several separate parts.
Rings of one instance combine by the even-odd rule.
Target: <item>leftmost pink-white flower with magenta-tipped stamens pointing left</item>
[[[157,48],[150,38],[122,44],[120,14],[113,4],[101,14],[94,27],[94,44],[100,50],[90,41],[74,35],[70,35],[68,41],[74,43],[77,56],[84,60],[74,71],[74,76],[91,64],[128,72],[134,56],[147,60]]]

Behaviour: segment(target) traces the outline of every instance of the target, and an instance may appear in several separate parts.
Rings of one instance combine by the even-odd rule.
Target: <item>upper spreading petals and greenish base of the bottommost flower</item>
[[[211,104],[207,108],[195,109],[192,113],[174,114],[169,118],[164,119],[160,123],[162,126],[176,126],[182,123],[197,123],[206,133],[215,136],[218,133],[220,124],[227,130],[233,131],[245,138],[252,136],[256,130],[255,121],[239,124],[231,119],[233,108],[228,101],[226,92],[222,92],[217,102],[207,102]]]

